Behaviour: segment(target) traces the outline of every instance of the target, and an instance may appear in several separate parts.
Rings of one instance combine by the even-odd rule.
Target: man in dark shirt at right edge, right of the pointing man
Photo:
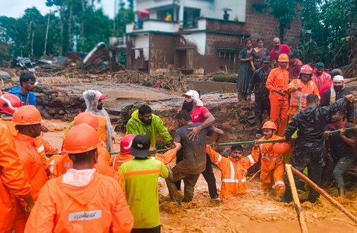
[[[356,143],[356,132],[346,132],[345,128],[352,127],[345,121],[345,112],[338,111],[332,115],[332,124],[327,125],[325,134],[329,136],[332,158],[336,167],[334,167],[334,179],[338,188],[340,197],[345,195],[345,182],[343,182],[343,173],[354,164],[354,147]],[[339,130],[340,134],[331,134],[332,130]]]

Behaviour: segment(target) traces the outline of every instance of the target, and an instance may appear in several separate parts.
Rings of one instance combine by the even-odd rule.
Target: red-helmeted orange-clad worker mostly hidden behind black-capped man
[[[135,134],[128,134],[124,136],[124,138],[120,141],[120,152],[119,154],[113,156],[111,158],[111,166],[114,169],[114,171],[118,171],[120,168],[120,165],[123,164],[123,162],[133,160],[135,157],[130,154],[130,147],[131,144],[133,143],[133,139],[135,138]],[[175,157],[177,151],[181,149],[181,144],[180,143],[174,143],[175,148],[170,149],[166,151],[164,154],[155,154],[155,156],[149,156],[152,160],[159,160],[163,164],[169,164]]]

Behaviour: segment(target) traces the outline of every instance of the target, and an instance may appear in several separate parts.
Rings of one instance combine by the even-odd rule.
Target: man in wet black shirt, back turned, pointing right
[[[290,140],[292,134],[298,130],[297,140],[290,158],[292,167],[301,172],[308,167],[308,177],[318,186],[321,183],[323,147],[325,146],[324,132],[327,121],[338,108],[344,106],[347,101],[353,100],[353,95],[346,95],[329,106],[318,107],[319,97],[310,94],[306,97],[307,108],[295,114],[286,128],[286,140]],[[295,184],[299,184],[299,178],[296,175],[294,175],[294,179]],[[308,200],[311,203],[314,203],[319,196],[319,193],[310,188]],[[290,184],[287,181],[286,191],[281,201],[287,203],[292,201]]]

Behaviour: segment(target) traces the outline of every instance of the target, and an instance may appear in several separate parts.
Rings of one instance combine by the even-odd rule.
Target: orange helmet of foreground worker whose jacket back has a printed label
[[[87,123],[71,127],[63,141],[63,152],[82,154],[96,149],[102,144],[97,132]]]

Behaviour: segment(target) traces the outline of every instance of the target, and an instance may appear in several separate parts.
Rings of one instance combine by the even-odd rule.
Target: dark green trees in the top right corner
[[[345,66],[357,56],[357,1],[305,0],[301,10],[301,42],[297,53],[304,63]]]

